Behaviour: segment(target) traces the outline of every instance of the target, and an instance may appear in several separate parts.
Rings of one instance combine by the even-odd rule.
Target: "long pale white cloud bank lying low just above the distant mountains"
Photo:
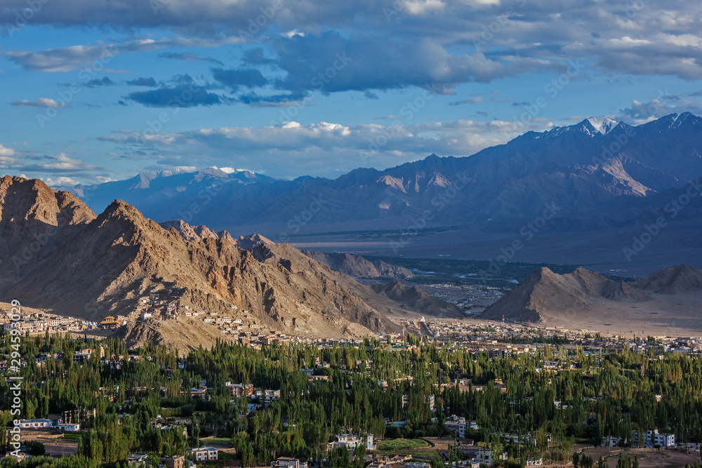
[[[201,128],[159,134],[157,140],[119,133],[103,138],[128,148],[126,158],[150,159],[151,168],[176,166],[249,167],[273,177],[318,175],[333,169],[378,169],[415,161],[428,154],[468,156],[485,147],[505,143],[524,131],[550,128],[550,121],[535,119],[532,126],[510,121],[446,121],[389,125],[296,121],[275,126]],[[116,132],[117,133],[117,132]],[[135,151],[136,149],[136,151]]]

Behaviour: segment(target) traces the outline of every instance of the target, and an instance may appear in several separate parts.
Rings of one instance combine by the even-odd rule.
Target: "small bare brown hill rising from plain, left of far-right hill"
[[[550,319],[575,318],[591,312],[603,300],[642,302],[648,298],[647,293],[628,283],[617,283],[586,269],[560,275],[541,268],[487,307],[481,318],[501,320],[504,316],[512,321],[548,323]]]

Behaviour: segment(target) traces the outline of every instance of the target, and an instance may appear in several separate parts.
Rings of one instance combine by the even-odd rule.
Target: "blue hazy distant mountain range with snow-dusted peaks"
[[[701,175],[702,119],[684,113],[640,126],[590,118],[525,133],[473,156],[432,154],[385,171],[359,168],[335,180],[276,180],[209,168],[58,189],[96,212],[122,199],[159,222],[183,219],[277,241],[298,233],[412,225],[499,232],[520,227],[545,206],[558,210],[550,230],[621,227],[665,206]]]

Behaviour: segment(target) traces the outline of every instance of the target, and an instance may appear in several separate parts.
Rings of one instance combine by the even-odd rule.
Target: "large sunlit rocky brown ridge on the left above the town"
[[[23,305],[102,319],[131,312],[139,297],[167,283],[187,288],[194,307],[223,312],[234,304],[294,335],[399,330],[360,297],[358,283],[290,246],[249,252],[229,240],[187,241],[123,201],[95,218],[39,181],[4,178],[1,190],[0,293]],[[25,262],[14,260],[13,269],[13,253],[44,232],[48,241]]]

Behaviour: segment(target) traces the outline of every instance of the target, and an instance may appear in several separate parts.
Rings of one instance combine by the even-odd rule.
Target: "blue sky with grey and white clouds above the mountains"
[[[0,169],[335,178],[608,115],[702,114],[685,0],[3,0]]]

